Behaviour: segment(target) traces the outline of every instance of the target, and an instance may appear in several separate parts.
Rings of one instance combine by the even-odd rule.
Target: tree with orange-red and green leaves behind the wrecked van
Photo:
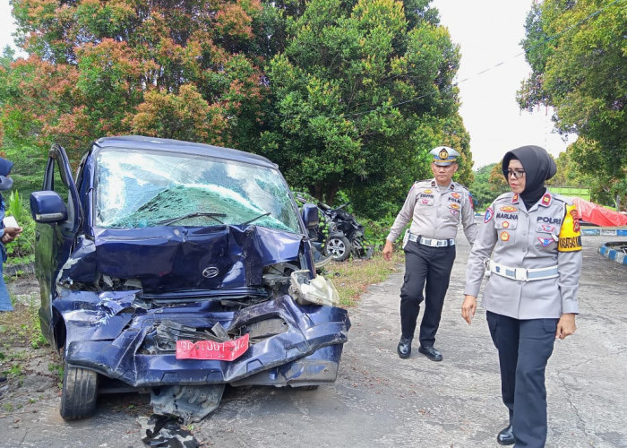
[[[265,95],[258,0],[13,0],[29,54],[0,72],[5,138],[76,159],[99,136],[250,150]]]

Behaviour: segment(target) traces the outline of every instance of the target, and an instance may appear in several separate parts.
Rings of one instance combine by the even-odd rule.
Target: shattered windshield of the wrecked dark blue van
[[[216,226],[253,223],[299,232],[279,172],[174,152],[99,152],[96,226]]]

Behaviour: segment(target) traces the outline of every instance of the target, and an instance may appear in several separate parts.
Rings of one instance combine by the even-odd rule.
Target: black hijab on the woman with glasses
[[[520,160],[522,168],[525,169],[525,190],[520,194],[520,198],[529,210],[545,194],[545,180],[554,177],[557,166],[543,148],[533,145],[521,146],[505,153],[502,158],[502,175],[506,181],[510,180],[507,177],[507,169],[511,159]]]

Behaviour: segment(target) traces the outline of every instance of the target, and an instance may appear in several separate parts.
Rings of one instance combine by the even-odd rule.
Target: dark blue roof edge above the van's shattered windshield
[[[204,143],[183,142],[181,140],[161,139],[157,137],[146,137],[144,135],[120,135],[116,137],[99,138],[94,145],[99,148],[120,148],[127,150],[149,150],[149,151],[170,151],[185,154],[198,154],[202,156],[216,157],[219,159],[229,159],[261,165],[264,167],[278,168],[277,164],[271,162],[258,154],[213,146]]]

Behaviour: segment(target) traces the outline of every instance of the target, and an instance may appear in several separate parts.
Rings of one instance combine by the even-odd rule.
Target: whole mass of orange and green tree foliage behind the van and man
[[[0,70],[15,185],[39,189],[51,142],[75,167],[112,134],[262,152],[290,185],[328,203],[345,192],[372,220],[431,177],[434,146],[460,151],[455,180],[469,185],[460,50],[429,3],[13,0],[30,52],[5,52]]]

